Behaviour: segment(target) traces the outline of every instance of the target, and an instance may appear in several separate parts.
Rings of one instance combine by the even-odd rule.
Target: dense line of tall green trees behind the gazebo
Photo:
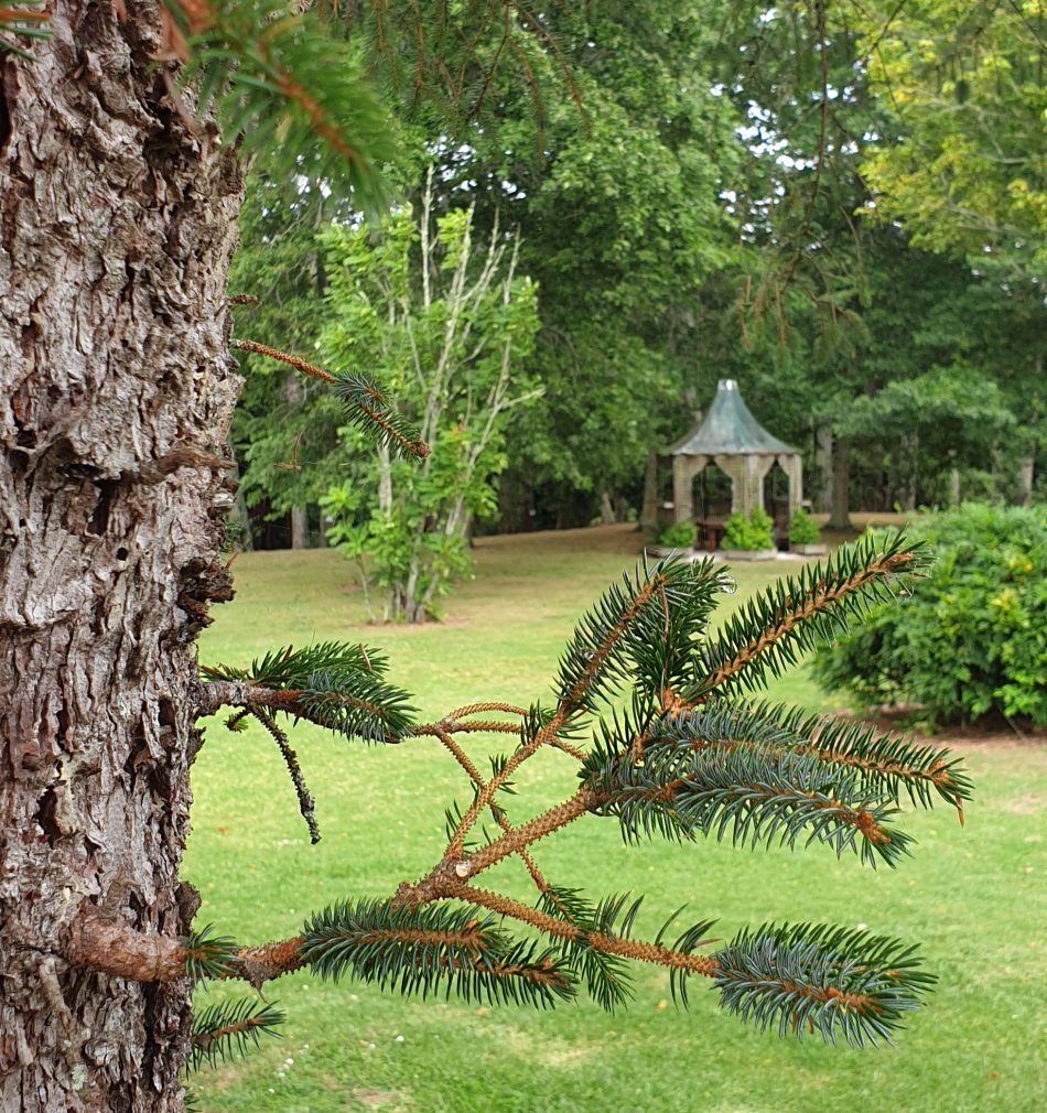
[[[505,430],[475,529],[639,509],[648,454],[725,376],[803,450],[806,493],[840,524],[848,505],[1033,496],[1043,6],[985,4],[981,22],[957,0],[893,7],[563,6],[514,30],[542,46],[525,80],[463,76],[485,88],[453,136],[412,106],[393,170],[405,204],[435,167],[437,210],[518,230],[537,284],[522,370],[542,393]],[[483,31],[492,56],[505,33]],[[912,171],[913,146],[936,175]],[[234,276],[260,298],[246,335],[310,352],[336,312],[318,235],[355,216],[325,194],[255,175]],[[256,525],[315,542],[326,489],[367,466],[322,393],[264,364],[234,429],[245,495]]]

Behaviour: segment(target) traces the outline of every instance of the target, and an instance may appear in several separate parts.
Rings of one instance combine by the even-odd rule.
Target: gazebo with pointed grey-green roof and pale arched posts
[[[749,412],[733,378],[721,378],[717,396],[698,427],[662,454],[672,465],[672,504],[658,499],[656,465],[648,469],[643,520],[651,524],[695,520],[693,484],[714,463],[731,481],[731,513],[763,505],[763,480],[779,464],[789,480],[789,515],[803,499],[803,464],[797,449],[770,434]],[[703,508],[704,510],[704,508]]]

